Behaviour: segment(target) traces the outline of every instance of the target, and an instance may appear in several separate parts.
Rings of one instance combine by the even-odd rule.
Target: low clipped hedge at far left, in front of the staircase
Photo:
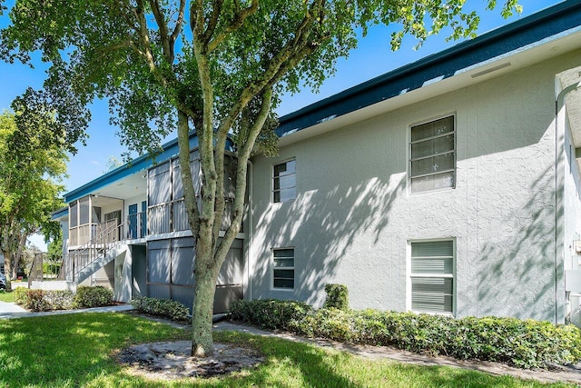
[[[101,307],[113,303],[113,290],[103,286],[81,286],[76,294],[70,291],[28,290],[18,287],[14,291],[15,303],[33,312]]]

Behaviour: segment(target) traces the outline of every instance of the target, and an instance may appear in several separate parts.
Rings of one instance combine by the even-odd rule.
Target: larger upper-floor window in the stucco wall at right
[[[409,177],[412,193],[456,184],[454,116],[411,127]]]

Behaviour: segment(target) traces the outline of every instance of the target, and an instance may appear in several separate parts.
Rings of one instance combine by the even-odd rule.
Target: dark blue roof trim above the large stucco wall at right
[[[276,133],[282,137],[343,114],[350,114],[419,89],[430,80],[449,78],[469,66],[507,55],[572,29],[578,30],[580,25],[581,0],[559,3],[286,114],[280,118]]]

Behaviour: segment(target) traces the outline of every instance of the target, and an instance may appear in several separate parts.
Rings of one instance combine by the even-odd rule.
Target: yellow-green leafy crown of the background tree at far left
[[[26,239],[41,227],[46,236],[58,229],[51,213],[64,205],[68,160],[54,114],[31,110],[22,98],[13,108],[0,114],[0,251],[12,277]]]

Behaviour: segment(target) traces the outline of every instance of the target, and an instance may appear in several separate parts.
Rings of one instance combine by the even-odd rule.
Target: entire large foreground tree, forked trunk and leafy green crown
[[[177,128],[180,161],[188,164],[188,135],[195,130],[202,187],[194,188],[190,169],[181,172],[196,239],[192,353],[204,355],[212,353],[216,276],[241,227],[247,161],[256,145],[276,152],[273,112],[281,94],[301,83],[318,87],[337,58],[356,47],[356,31],[366,35],[370,25],[398,25],[393,48],[403,35],[421,43],[445,26],[451,38],[471,36],[479,16],[464,12],[464,3],[18,0],[12,24],[0,32],[0,57],[29,62],[40,51],[52,64],[43,97],[59,121],[77,117],[79,125],[66,126],[73,128],[68,138],[84,138],[83,107],[94,97],[109,99],[123,143],[139,153],[155,152]],[[507,0],[503,13],[515,10],[517,0]],[[228,138],[238,166],[231,224],[221,234]]]

